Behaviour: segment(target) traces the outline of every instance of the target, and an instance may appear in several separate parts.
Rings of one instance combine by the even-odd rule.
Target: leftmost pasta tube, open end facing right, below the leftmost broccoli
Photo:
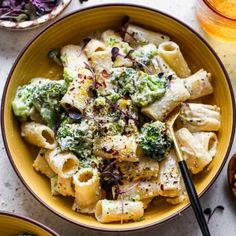
[[[38,147],[54,149],[57,146],[52,129],[46,125],[27,122],[21,125],[21,136],[29,143]]]

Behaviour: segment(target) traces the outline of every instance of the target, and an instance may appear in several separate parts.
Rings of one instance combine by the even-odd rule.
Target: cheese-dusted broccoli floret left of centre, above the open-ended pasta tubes
[[[81,123],[62,123],[57,130],[57,141],[62,151],[73,151],[81,158],[92,154],[95,123],[82,120]]]

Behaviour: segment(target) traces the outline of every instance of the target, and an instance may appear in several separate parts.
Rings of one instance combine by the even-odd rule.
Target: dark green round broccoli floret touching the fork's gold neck
[[[172,139],[165,123],[156,121],[141,128],[140,146],[150,158],[162,161],[172,147]]]

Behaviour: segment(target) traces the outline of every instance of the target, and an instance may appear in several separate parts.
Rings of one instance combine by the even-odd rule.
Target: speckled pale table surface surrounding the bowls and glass
[[[202,32],[195,17],[195,0],[90,0],[83,4],[80,4],[78,0],[72,0],[72,3],[63,15],[75,9],[111,2],[136,3],[150,6],[167,12],[192,26],[215,48],[224,62],[226,69],[228,70],[234,89],[236,89],[236,43],[226,43],[213,40]],[[17,54],[26,42],[30,40],[39,30],[40,29],[16,32],[0,29],[1,94],[7,75],[14,60],[16,59]],[[234,142],[231,155],[235,151],[236,147]],[[105,235],[105,233],[93,232],[70,224],[51,213],[39,202],[37,202],[37,200],[32,197],[32,195],[26,190],[16,176],[7,158],[2,139],[0,139],[0,166],[0,210],[15,212],[32,217],[33,219],[36,219],[51,227],[63,236]],[[235,199],[232,198],[228,189],[226,173],[227,165],[224,167],[222,173],[211,186],[209,191],[207,191],[207,193],[201,198],[203,208],[214,208],[217,205],[223,205],[225,207],[223,213],[215,214],[209,223],[211,233],[214,236],[236,235],[236,202]],[[124,233],[122,234],[124,235]],[[127,235],[142,236],[154,234],[166,236],[200,236],[201,232],[196,223],[192,209],[188,209],[175,219],[156,228],[140,231],[138,233],[129,233]]]

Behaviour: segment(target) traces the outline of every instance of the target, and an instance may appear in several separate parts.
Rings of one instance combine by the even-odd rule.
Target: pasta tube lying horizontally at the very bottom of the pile
[[[142,202],[121,200],[100,200],[95,210],[95,217],[101,223],[138,220],[143,214]]]

